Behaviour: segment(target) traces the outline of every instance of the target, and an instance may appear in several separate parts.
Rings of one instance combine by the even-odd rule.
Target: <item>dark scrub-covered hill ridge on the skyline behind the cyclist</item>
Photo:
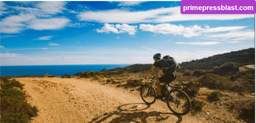
[[[181,69],[177,72],[184,73],[186,70],[201,69],[202,71],[209,71],[215,66],[221,66],[224,63],[233,62],[236,65],[244,66],[255,64],[255,48],[244,49],[240,51],[232,51],[230,53],[224,53],[219,55],[210,56],[208,58],[192,60],[190,62],[183,62],[180,64]],[[114,68],[114,69],[103,69],[101,71],[104,75],[121,74],[124,72],[145,72],[148,71],[153,64],[134,64],[124,68]]]

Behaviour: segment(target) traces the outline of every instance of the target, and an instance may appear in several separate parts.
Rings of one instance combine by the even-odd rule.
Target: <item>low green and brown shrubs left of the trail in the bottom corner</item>
[[[23,89],[22,84],[15,80],[0,77],[0,123],[26,123],[31,117],[36,117],[38,109],[26,102],[23,91],[12,89]]]

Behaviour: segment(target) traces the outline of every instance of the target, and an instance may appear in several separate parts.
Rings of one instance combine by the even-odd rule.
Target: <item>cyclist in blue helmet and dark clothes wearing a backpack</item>
[[[177,78],[177,74],[176,74],[175,70],[173,70],[172,68],[169,68],[169,66],[164,61],[160,60],[161,59],[160,53],[155,54],[153,56],[153,59],[155,62],[153,64],[153,66],[151,67],[151,69],[148,71],[147,75],[145,76],[145,79],[147,79],[147,77],[153,72],[153,70],[156,67],[160,68],[160,70],[159,70],[158,74],[155,76],[155,78],[160,76],[160,74],[162,72],[164,73],[164,75],[161,76],[156,81],[156,88],[157,88],[157,92],[158,92],[159,96],[156,96],[155,98],[163,100],[164,96],[165,96],[166,88],[164,88],[164,90],[162,91],[161,85],[167,86],[170,82],[172,82],[173,80],[175,80]],[[163,95],[162,95],[161,91],[163,92]]]

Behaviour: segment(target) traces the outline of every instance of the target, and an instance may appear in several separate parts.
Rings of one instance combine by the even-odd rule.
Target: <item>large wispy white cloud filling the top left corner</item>
[[[65,1],[22,2],[22,4],[30,4],[34,8],[10,6],[19,13],[2,19],[0,32],[20,33],[26,29],[56,30],[67,26],[70,22],[67,18],[53,16],[66,10]]]

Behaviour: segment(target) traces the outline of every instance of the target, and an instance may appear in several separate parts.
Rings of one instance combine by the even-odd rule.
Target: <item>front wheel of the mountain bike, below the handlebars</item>
[[[155,96],[156,96],[156,90],[150,84],[144,84],[141,87],[141,98],[146,104],[151,105],[155,103],[156,101]]]

